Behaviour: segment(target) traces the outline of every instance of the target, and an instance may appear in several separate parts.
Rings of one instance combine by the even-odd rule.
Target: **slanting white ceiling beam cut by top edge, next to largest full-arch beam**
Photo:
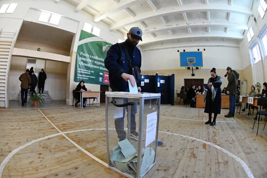
[[[106,18],[107,16],[111,16],[114,13],[117,13],[118,11],[121,11],[123,9],[126,9],[128,7],[131,7],[136,4],[141,4],[144,2],[144,0],[138,1],[138,0],[121,0],[118,2],[114,7],[109,7],[106,11],[101,12],[98,15],[94,16],[94,22],[99,22],[100,20]]]

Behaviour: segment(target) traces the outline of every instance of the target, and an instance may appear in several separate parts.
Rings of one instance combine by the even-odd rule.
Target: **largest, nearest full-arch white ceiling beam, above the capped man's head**
[[[144,21],[149,18],[154,18],[157,16],[167,16],[167,15],[175,15],[180,13],[187,13],[187,12],[205,12],[205,11],[221,11],[221,12],[234,12],[236,14],[244,14],[247,16],[253,16],[252,11],[249,8],[241,8],[240,6],[229,6],[229,5],[215,5],[215,4],[201,4],[198,6],[192,5],[183,5],[181,7],[167,7],[161,8],[157,11],[148,11],[145,13],[140,13],[136,16],[131,18],[122,18],[122,20],[117,21],[116,24],[110,25],[110,30],[114,31],[121,27],[131,25],[133,23],[137,23],[139,21]]]

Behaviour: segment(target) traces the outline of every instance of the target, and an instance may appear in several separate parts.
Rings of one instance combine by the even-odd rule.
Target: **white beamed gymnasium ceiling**
[[[237,47],[253,16],[253,0],[65,1],[75,6],[75,12],[83,10],[95,22],[103,21],[110,31],[119,31],[123,36],[131,27],[140,27],[144,34],[139,45],[147,50],[175,47],[187,41]]]

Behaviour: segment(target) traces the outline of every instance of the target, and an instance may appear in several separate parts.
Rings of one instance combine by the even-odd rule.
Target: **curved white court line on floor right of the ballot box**
[[[244,162],[243,160],[241,160],[241,158],[235,156],[233,153],[231,153],[230,151],[227,151],[226,149],[220,147],[220,146],[217,146],[213,143],[210,143],[210,142],[207,142],[207,141],[204,141],[204,140],[200,140],[198,138],[195,138],[195,137],[190,137],[190,136],[186,136],[186,135],[181,135],[181,134],[178,134],[178,133],[171,133],[171,132],[166,132],[166,131],[159,131],[160,133],[166,133],[166,134],[171,134],[171,135],[177,135],[177,136],[181,136],[181,137],[184,137],[184,138],[188,138],[188,139],[192,139],[192,140],[196,140],[198,142],[202,142],[206,145],[210,145],[210,146],[213,146],[215,148],[217,148],[218,150],[224,152],[225,154],[229,155],[230,157],[234,158],[234,160],[236,160],[237,162],[239,162],[242,167],[244,168],[245,172],[247,173],[248,177],[249,178],[254,178],[252,172],[250,171],[250,168],[249,166],[246,164],[246,162]]]

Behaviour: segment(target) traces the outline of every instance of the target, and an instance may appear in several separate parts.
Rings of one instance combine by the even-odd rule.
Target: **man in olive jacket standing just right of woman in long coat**
[[[226,90],[229,91],[229,113],[227,115],[224,115],[224,117],[234,117],[234,111],[235,111],[235,95],[237,94],[237,82],[239,78],[239,74],[232,70],[231,67],[227,67],[227,80],[228,85],[226,87]]]

